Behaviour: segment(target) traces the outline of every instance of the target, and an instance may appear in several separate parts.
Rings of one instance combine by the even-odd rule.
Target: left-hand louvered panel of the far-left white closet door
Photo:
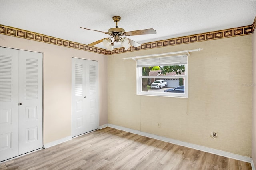
[[[1,47],[0,160],[18,155],[18,50]]]

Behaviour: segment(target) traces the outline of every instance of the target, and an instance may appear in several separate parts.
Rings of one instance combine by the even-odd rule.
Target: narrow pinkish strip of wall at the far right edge
[[[252,35],[252,159],[256,167],[256,31]]]

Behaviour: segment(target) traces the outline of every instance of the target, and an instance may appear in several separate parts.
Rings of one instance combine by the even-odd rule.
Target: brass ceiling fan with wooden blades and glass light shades
[[[136,30],[136,31],[125,32],[125,30],[123,28],[118,28],[118,26],[117,26],[117,23],[121,20],[121,17],[120,16],[113,16],[113,20],[114,20],[114,22],[116,22],[116,27],[115,28],[110,28],[108,30],[108,32],[92,30],[92,31],[98,31],[98,32],[102,32],[104,34],[108,34],[112,37],[103,38],[103,39],[98,40],[96,42],[92,42],[91,44],[88,44],[89,46],[94,46],[94,45],[99,44],[99,43],[102,42],[108,50],[112,51],[112,50],[114,50],[114,42],[121,42],[121,45],[124,47],[124,49],[128,50],[130,45],[132,45],[134,47],[138,47],[141,44],[139,44],[138,42],[135,42],[135,41],[133,41],[129,38],[122,38],[121,36],[136,36],[136,35],[145,35],[145,34],[156,34],[156,30],[154,30],[153,28],[145,29],[145,30]],[[80,27],[80,28],[83,28],[83,27]],[[91,29],[88,29],[88,28],[84,28],[84,29],[91,30]]]

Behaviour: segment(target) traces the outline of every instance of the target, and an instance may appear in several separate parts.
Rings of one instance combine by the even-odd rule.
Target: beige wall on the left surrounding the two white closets
[[[44,144],[71,136],[71,58],[98,61],[99,125],[107,123],[107,56],[0,35],[1,46],[44,52]]]

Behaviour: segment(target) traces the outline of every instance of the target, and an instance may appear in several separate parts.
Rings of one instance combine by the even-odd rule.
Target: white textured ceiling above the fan
[[[256,0],[0,0],[0,24],[82,44],[110,36],[80,26],[107,32],[113,16],[122,17],[118,26],[126,31],[154,28],[157,34],[129,37],[146,43],[250,25]]]

